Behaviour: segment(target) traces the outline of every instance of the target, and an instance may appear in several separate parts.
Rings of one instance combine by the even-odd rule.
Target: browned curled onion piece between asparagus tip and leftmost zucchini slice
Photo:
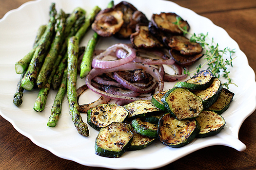
[[[78,88],[77,92],[78,92],[78,105],[79,105],[79,97],[80,95],[88,89],[88,86],[87,85],[82,85]],[[89,104],[82,104],[82,105],[79,105],[79,112],[81,113],[87,113],[87,111],[91,108],[94,108],[96,106],[98,106],[99,104],[106,104],[108,102],[110,102],[110,98],[107,98],[105,96],[100,96],[98,98],[97,101],[95,102],[91,102]]]

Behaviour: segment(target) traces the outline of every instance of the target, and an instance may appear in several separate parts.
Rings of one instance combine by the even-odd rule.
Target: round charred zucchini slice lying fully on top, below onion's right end
[[[176,87],[169,90],[161,101],[168,112],[179,120],[197,118],[203,110],[202,99],[184,88]]]

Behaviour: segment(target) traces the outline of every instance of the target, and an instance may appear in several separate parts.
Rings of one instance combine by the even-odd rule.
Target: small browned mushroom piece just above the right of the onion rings
[[[148,25],[137,24],[136,32],[131,34],[130,40],[137,49],[161,48],[163,44],[148,30]]]

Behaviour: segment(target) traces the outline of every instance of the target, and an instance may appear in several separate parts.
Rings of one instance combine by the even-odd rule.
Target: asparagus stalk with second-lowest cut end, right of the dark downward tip
[[[50,91],[50,87],[51,87],[51,80],[52,80],[52,77],[53,75],[55,74],[57,68],[58,68],[58,65],[59,65],[59,62],[61,60],[62,56],[61,55],[58,55],[58,58],[54,64],[54,69],[52,70],[52,73],[50,75],[50,77],[48,78],[47,80],[47,83],[44,85],[43,88],[40,88],[39,90],[39,93],[38,93],[38,97],[36,99],[36,102],[34,104],[34,110],[37,111],[37,112],[42,112],[44,110],[44,107],[45,107],[45,104],[46,104],[46,101],[47,101],[47,98],[48,98],[48,94],[49,94],[49,91]]]

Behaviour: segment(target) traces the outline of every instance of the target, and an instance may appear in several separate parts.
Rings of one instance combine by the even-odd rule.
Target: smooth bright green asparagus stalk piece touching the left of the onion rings
[[[81,66],[80,66],[81,79],[84,78],[92,68],[91,65],[92,65],[93,52],[98,42],[98,39],[99,39],[99,35],[97,33],[94,33],[86,46],[86,49],[84,51],[84,55],[82,58]]]

